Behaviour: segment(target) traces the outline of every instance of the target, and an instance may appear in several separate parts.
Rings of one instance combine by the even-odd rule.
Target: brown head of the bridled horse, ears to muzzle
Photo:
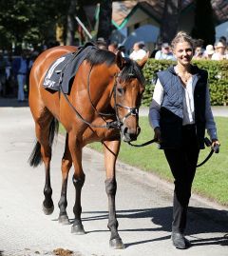
[[[136,63],[123,58],[121,52],[116,55],[116,64],[120,72],[116,77],[114,106],[118,121],[122,123],[121,132],[124,142],[134,141],[140,134],[139,108],[144,91],[142,68],[147,59],[148,56]]]

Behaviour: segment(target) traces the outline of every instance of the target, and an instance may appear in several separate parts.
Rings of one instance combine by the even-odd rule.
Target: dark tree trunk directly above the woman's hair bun
[[[170,43],[179,27],[181,0],[165,0],[161,22],[161,42]]]

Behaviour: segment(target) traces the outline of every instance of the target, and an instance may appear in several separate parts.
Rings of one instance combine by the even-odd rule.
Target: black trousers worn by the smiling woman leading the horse
[[[195,126],[183,127],[181,147],[165,148],[164,154],[173,173],[175,184],[172,231],[183,233],[186,226],[191,187],[199,157]]]

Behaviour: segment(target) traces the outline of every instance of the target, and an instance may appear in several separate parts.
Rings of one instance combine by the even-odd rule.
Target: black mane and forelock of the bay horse
[[[85,59],[91,65],[100,65],[105,63],[107,66],[111,66],[115,63],[115,54],[106,49],[94,49],[85,57]],[[137,62],[129,58],[124,59],[126,64],[121,71],[121,80],[128,81],[131,78],[137,78],[143,85],[145,83],[145,79],[142,74],[142,69],[139,67]]]

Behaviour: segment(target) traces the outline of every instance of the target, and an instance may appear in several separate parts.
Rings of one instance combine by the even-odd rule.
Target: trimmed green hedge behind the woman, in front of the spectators
[[[156,73],[175,65],[173,61],[149,59],[143,68],[146,80],[145,91],[143,93],[142,105],[149,106],[155,87]],[[193,65],[199,69],[206,69],[209,74],[209,89],[211,94],[211,105],[228,105],[228,61],[195,60]]]

